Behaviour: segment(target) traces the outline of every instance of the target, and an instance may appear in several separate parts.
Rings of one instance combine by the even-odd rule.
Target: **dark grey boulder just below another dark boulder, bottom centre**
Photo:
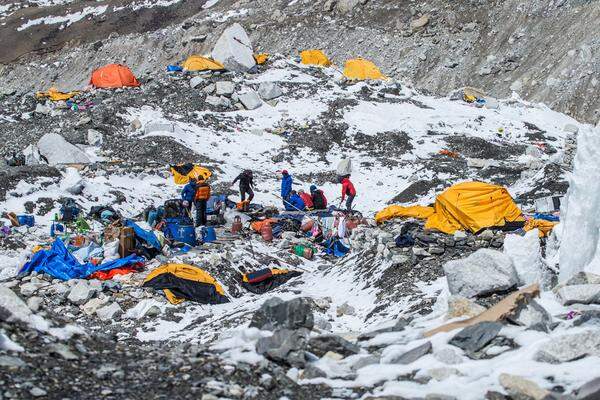
[[[273,336],[258,339],[256,352],[277,363],[301,368],[306,363],[304,349],[309,334],[310,331],[306,328],[278,329],[273,332]]]

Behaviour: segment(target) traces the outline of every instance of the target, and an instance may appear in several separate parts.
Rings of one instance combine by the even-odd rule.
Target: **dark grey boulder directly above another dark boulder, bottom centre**
[[[275,330],[280,328],[312,329],[314,316],[310,308],[311,301],[306,298],[296,298],[283,301],[273,297],[265,301],[252,316],[250,327],[261,330]]]

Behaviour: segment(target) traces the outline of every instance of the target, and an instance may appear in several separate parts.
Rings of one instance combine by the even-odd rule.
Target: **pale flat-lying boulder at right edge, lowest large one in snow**
[[[597,331],[589,330],[550,339],[540,346],[534,359],[539,362],[559,364],[588,355],[600,356],[600,335]]]

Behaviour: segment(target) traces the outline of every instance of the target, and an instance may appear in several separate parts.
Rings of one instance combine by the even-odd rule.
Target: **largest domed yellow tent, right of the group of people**
[[[448,234],[525,221],[505,188],[483,182],[464,182],[446,189],[437,196],[434,209],[425,228]]]

